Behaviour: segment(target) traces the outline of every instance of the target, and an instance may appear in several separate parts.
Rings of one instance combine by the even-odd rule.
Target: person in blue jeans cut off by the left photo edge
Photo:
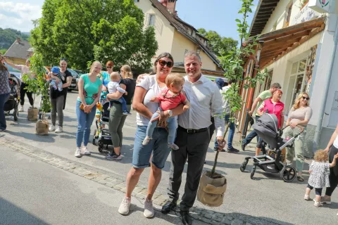
[[[4,56],[0,54],[0,132],[6,130],[6,118],[4,112],[4,105],[11,92],[8,84],[9,72],[4,65]]]

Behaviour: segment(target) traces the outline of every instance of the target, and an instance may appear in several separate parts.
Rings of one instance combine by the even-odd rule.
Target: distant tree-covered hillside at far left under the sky
[[[0,49],[1,49],[1,52],[3,52],[4,49],[5,50],[8,49],[17,38],[28,41],[29,36],[27,34],[23,34],[22,32],[20,32],[18,30],[14,30],[14,29],[11,29],[11,28],[6,28],[6,29],[0,28]]]

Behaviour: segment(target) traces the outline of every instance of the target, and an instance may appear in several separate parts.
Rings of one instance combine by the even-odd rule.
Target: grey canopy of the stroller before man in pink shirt
[[[271,148],[277,148],[277,129],[278,120],[275,114],[263,114],[256,122],[253,124],[253,129],[256,130],[258,136],[261,137],[265,143]]]

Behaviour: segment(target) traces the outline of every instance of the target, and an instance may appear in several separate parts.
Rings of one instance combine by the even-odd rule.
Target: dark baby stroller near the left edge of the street
[[[9,98],[6,101],[4,105],[4,111],[6,112],[6,115],[13,115],[14,121],[18,121],[19,116],[19,103],[20,103],[20,86],[21,82],[18,77],[15,77],[15,75],[11,75],[8,78],[9,88],[11,89],[11,92],[9,94]],[[11,114],[10,111],[13,110],[13,113]]]

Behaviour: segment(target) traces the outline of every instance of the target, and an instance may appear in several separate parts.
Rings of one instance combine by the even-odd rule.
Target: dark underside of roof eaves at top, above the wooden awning
[[[249,31],[250,36],[256,36],[257,34],[261,34],[263,32],[266,23],[268,23],[271,14],[273,14],[273,11],[279,2],[280,0],[259,1],[255,15],[253,15],[253,20]]]

